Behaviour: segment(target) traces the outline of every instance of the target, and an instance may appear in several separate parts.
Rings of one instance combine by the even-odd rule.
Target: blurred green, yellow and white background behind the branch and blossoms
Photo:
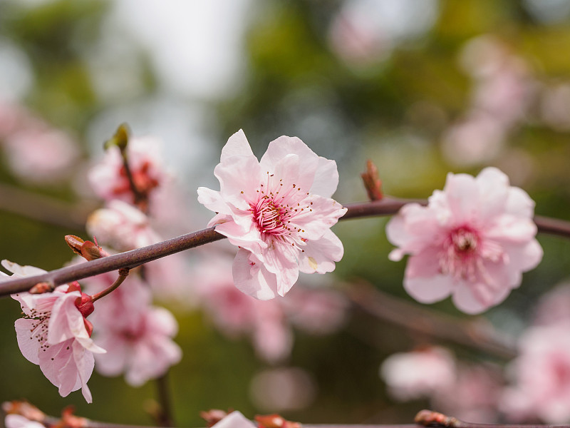
[[[568,0],[0,0],[0,128],[21,108],[72,142],[1,141],[1,258],[46,270],[71,260],[63,235],[86,237],[82,222],[101,205],[86,171],[123,122],[134,135],[163,141],[195,229],[210,216],[195,189],[217,188],[213,167],[239,128],[258,156],[289,135],[336,160],[341,203],[366,200],[359,174],[368,158],[385,193],[413,198],[442,188],[448,171],[495,165],[536,200],[537,214],[570,220],[569,23]],[[36,151],[63,168],[34,175],[40,167],[26,154]],[[340,290],[366,282],[413,302],[402,287],[405,263],[388,261],[385,222],[336,225],[345,255],[324,282]],[[541,265],[480,317],[509,337],[568,275],[570,243],[539,241]],[[193,257],[185,253],[190,264]],[[378,367],[393,352],[442,342],[356,307],[334,334],[296,331],[279,365],[259,359],[247,337],[228,340],[199,309],[171,309],[184,352],[169,376],[181,426],[201,426],[198,412],[209,408],[277,411],[314,423],[391,423],[410,422],[430,405],[390,397]],[[429,309],[474,318],[449,300]],[[133,388],[95,372],[93,404],[78,392],[59,397],[19,352],[19,313],[13,300],[0,301],[1,401],[25,397],[51,414],[74,404],[93,419],[152,422],[152,382]],[[508,361],[443,345],[468,362]],[[301,399],[293,408],[279,399],[260,403],[252,394],[259,373],[284,367],[301,373],[292,393]]]

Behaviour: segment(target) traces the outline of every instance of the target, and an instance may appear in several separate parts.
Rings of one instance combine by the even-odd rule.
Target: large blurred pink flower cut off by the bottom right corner
[[[514,385],[504,391],[502,410],[517,421],[570,422],[570,323],[531,327],[519,348],[509,367]]]

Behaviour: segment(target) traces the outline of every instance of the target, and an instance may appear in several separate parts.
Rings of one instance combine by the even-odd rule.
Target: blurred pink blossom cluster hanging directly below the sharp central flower
[[[295,287],[285,297],[260,301],[237,290],[229,272],[231,260],[208,255],[195,275],[196,300],[222,332],[235,339],[249,336],[257,355],[282,362],[293,347],[293,328],[312,335],[338,330],[346,320],[348,302],[326,288]]]

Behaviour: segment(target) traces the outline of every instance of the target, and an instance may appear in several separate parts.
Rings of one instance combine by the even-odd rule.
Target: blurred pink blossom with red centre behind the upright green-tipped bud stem
[[[130,138],[127,146],[129,168],[137,189],[151,199],[168,179],[162,165],[161,143],[151,137]],[[120,199],[135,203],[135,196],[123,165],[119,148],[111,147],[100,163],[88,173],[89,183],[104,200]]]

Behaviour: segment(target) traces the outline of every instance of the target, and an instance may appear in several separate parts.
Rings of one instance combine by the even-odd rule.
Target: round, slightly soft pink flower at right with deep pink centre
[[[386,226],[398,245],[390,260],[410,254],[405,290],[423,303],[452,295],[455,305],[477,313],[502,302],[536,267],[542,248],[534,238],[534,201],[509,185],[507,175],[485,168],[476,178],[448,174],[427,207],[405,205]]]

